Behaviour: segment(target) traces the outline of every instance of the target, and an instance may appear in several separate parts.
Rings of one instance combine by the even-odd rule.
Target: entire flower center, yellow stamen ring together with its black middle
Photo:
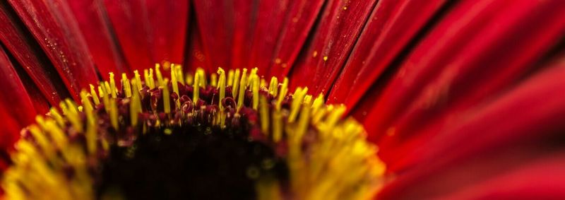
[[[22,131],[8,197],[365,199],[384,165],[345,107],[248,71],[138,71],[61,102]],[[155,73],[153,73],[155,72]],[[154,77],[155,76],[155,77]],[[210,79],[210,81],[208,81]],[[62,112],[62,113],[61,113]]]

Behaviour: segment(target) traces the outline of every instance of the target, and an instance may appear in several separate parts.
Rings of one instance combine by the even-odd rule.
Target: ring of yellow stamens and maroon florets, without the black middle
[[[343,119],[343,105],[325,105],[323,95],[313,98],[308,88],[291,95],[287,78],[267,84],[257,69],[220,68],[207,77],[202,69],[163,68],[168,77],[159,64],[143,71],[143,81],[138,71],[131,79],[122,74],[121,88],[110,73],[109,81],[81,92],[80,106],[65,100],[38,116],[11,154],[2,180],[6,195],[95,199],[105,166],[116,160],[112,152],[142,156],[135,154],[143,152],[136,150],[140,141],[175,134],[225,134],[222,139],[270,149],[260,159],[282,160],[287,175],[268,172],[272,166],[248,168],[258,199],[367,199],[378,189],[384,165],[377,148],[355,119]]]

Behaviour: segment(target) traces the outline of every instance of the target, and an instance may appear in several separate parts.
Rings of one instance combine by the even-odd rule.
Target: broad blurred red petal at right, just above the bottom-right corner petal
[[[563,150],[559,141],[562,138],[560,133],[565,130],[565,93],[561,92],[565,90],[563,77],[565,62],[561,61],[559,66],[530,78],[501,98],[470,109],[435,130],[441,134],[414,149],[405,159],[412,167],[401,171],[402,175],[382,195],[408,192],[409,189],[422,192],[429,187],[417,189],[418,186],[436,180],[439,184],[436,189],[443,190],[440,186],[444,185],[441,184],[444,179],[440,177],[444,175],[448,179],[451,175],[475,172],[465,168],[472,167],[467,165],[480,165],[488,170],[504,165],[508,159],[521,158],[529,153],[538,155],[556,148]],[[503,150],[509,152],[504,154]],[[483,158],[491,161],[484,165],[476,161]],[[506,169],[501,167],[499,170]],[[469,178],[463,177],[458,181],[468,182]]]

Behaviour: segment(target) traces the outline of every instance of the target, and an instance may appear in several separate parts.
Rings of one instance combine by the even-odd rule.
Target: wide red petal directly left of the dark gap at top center
[[[189,3],[105,0],[109,19],[131,69],[184,62]]]

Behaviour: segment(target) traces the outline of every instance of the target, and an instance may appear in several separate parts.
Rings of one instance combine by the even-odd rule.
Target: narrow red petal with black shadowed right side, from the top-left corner
[[[0,3],[0,40],[20,65],[25,66],[23,69],[40,94],[52,105],[57,105],[61,99],[70,97],[69,91],[42,49],[18,22],[18,16],[8,4]]]

